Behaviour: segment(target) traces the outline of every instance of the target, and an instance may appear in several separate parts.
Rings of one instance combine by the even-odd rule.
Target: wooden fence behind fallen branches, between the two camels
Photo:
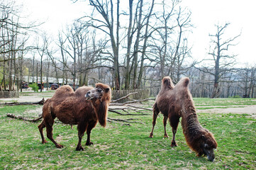
[[[134,100],[142,100],[145,98],[149,98],[150,91],[148,89],[136,89],[136,90],[113,90],[112,91],[112,100],[116,100],[118,98],[121,98],[123,96],[126,96],[130,93],[137,92],[137,94],[132,94],[129,96],[129,98],[132,98]],[[118,101],[118,103],[124,103],[126,101],[131,101],[129,98],[123,98],[122,100]]]

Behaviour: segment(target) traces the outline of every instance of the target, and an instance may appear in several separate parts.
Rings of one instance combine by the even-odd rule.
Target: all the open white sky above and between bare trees
[[[75,18],[89,10],[87,2],[73,4],[70,0],[17,0],[23,3],[23,12],[29,20],[45,21],[41,26],[49,35],[72,23]],[[121,5],[122,1],[121,0]],[[128,1],[123,2],[128,6]],[[210,45],[209,33],[216,33],[215,25],[230,23],[226,30],[226,38],[240,35],[238,45],[231,47],[240,64],[256,64],[256,1],[254,0],[183,0],[182,6],[191,11],[191,23],[194,28],[189,35],[192,56],[198,59],[206,57]]]

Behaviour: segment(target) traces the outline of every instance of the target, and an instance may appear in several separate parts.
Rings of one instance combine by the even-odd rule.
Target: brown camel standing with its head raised
[[[111,89],[106,84],[96,84],[96,88],[82,86],[75,92],[69,85],[61,86],[52,98],[43,105],[43,121],[38,125],[42,143],[46,143],[43,128],[46,127],[47,137],[57,148],[63,146],[52,138],[52,125],[55,118],[62,123],[77,125],[79,141],[76,150],[84,150],[81,145],[84,132],[87,131],[86,145],[92,145],[90,134],[96,123],[106,126],[108,106],[111,101]]]

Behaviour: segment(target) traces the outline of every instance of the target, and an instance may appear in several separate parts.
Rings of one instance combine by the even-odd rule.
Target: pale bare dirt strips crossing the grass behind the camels
[[[54,92],[52,92],[53,94]],[[49,96],[44,96],[45,100],[47,98],[50,98],[51,95]],[[30,94],[29,96],[20,96],[19,98],[0,98],[1,103],[5,103],[5,102],[13,102],[13,101],[17,101],[17,102],[38,102],[40,100],[42,100],[42,96],[38,95],[38,94]],[[209,107],[209,106],[207,106]],[[204,109],[204,106],[199,106],[196,108],[200,108],[197,109],[196,112],[197,113],[237,113],[237,114],[249,114],[252,115],[252,118],[256,119],[256,105],[252,105],[252,106],[223,106],[223,108],[221,108],[220,106],[216,106],[216,108],[214,108],[214,106],[210,106],[213,107],[211,109]],[[218,108],[217,108],[218,107]],[[226,108],[228,107],[228,108]]]

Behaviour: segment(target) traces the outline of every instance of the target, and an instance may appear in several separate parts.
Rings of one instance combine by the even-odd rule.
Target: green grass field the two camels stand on
[[[256,105],[247,98],[208,99],[195,98],[196,106],[246,106]],[[152,107],[152,102],[145,103]],[[216,159],[196,157],[187,146],[182,127],[177,131],[177,147],[170,147],[169,138],[163,138],[163,116],[157,118],[154,138],[149,138],[152,128],[150,115],[123,116],[108,113],[110,118],[138,118],[140,123],[108,123],[106,128],[96,125],[91,132],[94,145],[77,147],[76,126],[55,123],[53,136],[64,145],[57,149],[52,142],[40,143],[38,123],[15,120],[6,113],[37,117],[41,106],[0,107],[0,169],[256,169],[256,120],[247,114],[198,113],[199,122],[213,132],[218,148]],[[45,135],[46,136],[46,135]],[[86,135],[82,144],[85,145]]]

